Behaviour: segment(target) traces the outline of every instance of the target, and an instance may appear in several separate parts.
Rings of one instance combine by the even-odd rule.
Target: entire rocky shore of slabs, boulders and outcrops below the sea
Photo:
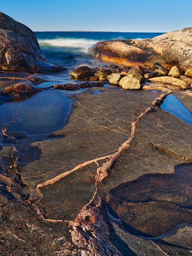
[[[0,120],[1,255],[192,255],[191,125],[161,108],[172,95],[192,112],[191,29],[99,42],[90,52],[113,64],[66,80],[45,74],[65,68],[46,62],[29,28],[2,13],[0,26],[10,123],[45,91],[45,109],[58,110],[54,92],[71,106],[61,129],[31,137]]]

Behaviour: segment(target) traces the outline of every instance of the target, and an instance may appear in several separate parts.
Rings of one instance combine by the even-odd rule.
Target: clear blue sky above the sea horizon
[[[169,32],[192,27],[191,0],[9,0],[0,11],[33,31]]]

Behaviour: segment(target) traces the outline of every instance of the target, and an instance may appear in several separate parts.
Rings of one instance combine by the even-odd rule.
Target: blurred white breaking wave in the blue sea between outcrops
[[[78,48],[79,51],[87,52],[87,49],[98,40],[85,38],[55,38],[55,39],[39,39],[40,46],[50,45],[57,47]]]

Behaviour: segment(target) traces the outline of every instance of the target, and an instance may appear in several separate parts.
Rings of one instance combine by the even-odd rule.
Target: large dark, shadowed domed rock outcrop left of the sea
[[[47,63],[30,28],[0,12],[0,70],[36,73],[63,69]]]

